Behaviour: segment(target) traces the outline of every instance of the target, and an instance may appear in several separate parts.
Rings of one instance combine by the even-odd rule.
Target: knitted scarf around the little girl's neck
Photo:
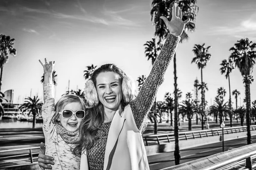
[[[76,132],[70,132],[60,124],[56,124],[56,132],[61,136],[61,138],[68,144],[78,144],[80,140],[79,130]]]

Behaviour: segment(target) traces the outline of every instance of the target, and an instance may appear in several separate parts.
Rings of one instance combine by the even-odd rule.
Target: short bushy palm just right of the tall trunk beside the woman
[[[180,104],[179,112],[186,115],[189,119],[189,130],[192,130],[192,122],[191,119],[193,117],[195,102],[192,99],[187,99]]]

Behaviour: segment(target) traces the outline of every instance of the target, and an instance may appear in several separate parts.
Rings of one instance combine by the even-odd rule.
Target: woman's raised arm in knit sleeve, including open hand
[[[173,6],[172,20],[168,21],[166,17],[161,17],[166,23],[169,33],[166,42],[163,45],[160,54],[154,62],[152,70],[143,83],[138,96],[131,102],[131,110],[134,114],[135,123],[139,130],[143,129],[145,118],[153,105],[159,86],[163,83],[164,75],[175,55],[177,45],[180,41],[180,35],[184,26],[189,20],[182,21],[182,13],[179,7]]]

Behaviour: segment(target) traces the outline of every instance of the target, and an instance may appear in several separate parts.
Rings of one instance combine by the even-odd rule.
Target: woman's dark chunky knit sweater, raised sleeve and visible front
[[[180,38],[172,34],[168,34],[166,42],[154,62],[152,70],[147,79],[143,83],[137,97],[131,101],[130,106],[133,112],[135,123],[142,132],[146,123],[146,117],[154,103],[159,86],[163,83],[164,74],[175,54],[177,44]],[[103,170],[105,148],[108,139],[108,131],[111,122],[103,123],[96,133],[98,140],[91,149],[87,150],[87,159],[90,170]]]

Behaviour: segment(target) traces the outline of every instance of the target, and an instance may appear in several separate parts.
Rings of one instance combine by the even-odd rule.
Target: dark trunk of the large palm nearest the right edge
[[[249,83],[248,77],[245,77],[245,99],[246,99],[246,126],[247,126],[247,144],[252,143],[251,134],[250,134],[250,104],[249,104]]]

